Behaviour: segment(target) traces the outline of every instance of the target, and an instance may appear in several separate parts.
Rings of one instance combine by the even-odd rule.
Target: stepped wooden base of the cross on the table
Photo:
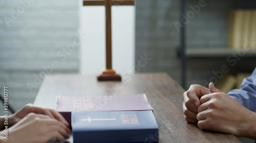
[[[104,70],[98,77],[98,81],[121,81],[121,76],[114,70]]]

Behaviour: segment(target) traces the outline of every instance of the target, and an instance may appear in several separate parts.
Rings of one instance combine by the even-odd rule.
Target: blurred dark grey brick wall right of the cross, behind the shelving
[[[198,5],[199,0],[186,1],[186,11],[190,6]],[[241,4],[242,3],[242,4]],[[247,8],[255,2],[246,1],[205,1],[206,6],[200,9],[186,25],[186,47],[208,48],[225,47],[227,41],[228,10]],[[179,47],[180,33],[174,24],[179,22],[180,1],[172,0],[139,0],[136,1],[136,63],[139,55],[147,53],[153,60],[141,72],[167,72],[180,82],[180,60],[176,49]],[[254,5],[254,8],[255,5]],[[220,70],[227,65],[230,72],[252,71],[256,64],[252,61],[241,62],[230,67],[225,60],[189,60],[187,62],[187,85],[204,84],[209,80],[212,71]],[[188,87],[187,87],[188,88]]]

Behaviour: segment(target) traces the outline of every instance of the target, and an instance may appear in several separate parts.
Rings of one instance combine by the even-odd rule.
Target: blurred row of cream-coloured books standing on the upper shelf
[[[233,49],[256,49],[256,10],[237,9],[229,12],[228,46]]]

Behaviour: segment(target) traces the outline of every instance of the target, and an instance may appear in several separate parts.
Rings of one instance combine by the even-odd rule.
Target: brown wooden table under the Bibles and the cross
[[[240,142],[230,134],[202,131],[188,124],[182,111],[184,90],[165,73],[124,75],[122,82],[98,82],[95,75],[48,75],[34,105],[55,109],[56,96],[129,95],[145,93],[154,108],[161,142]],[[73,138],[67,140],[73,142]]]

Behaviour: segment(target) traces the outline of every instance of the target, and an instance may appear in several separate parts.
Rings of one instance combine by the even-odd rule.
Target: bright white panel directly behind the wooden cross
[[[135,7],[112,6],[112,67],[122,74],[133,70],[135,61]],[[105,7],[81,8],[81,44],[79,73],[99,74],[105,68]]]

